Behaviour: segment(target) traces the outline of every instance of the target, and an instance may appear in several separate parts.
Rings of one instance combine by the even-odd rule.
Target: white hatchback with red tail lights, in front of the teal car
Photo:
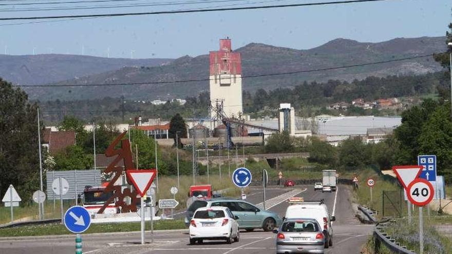
[[[190,221],[190,244],[202,243],[203,240],[226,240],[228,244],[238,242],[238,219],[228,207],[198,208]]]

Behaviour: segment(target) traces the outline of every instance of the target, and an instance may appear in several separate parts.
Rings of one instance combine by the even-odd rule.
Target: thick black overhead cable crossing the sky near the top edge
[[[306,4],[291,4],[291,5],[267,5],[267,6],[251,6],[251,7],[233,7],[233,8],[212,8],[212,9],[198,9],[198,10],[127,12],[127,13],[110,13],[110,14],[82,14],[82,15],[58,15],[58,16],[34,16],[34,17],[2,17],[2,18],[0,18],[0,21],[25,20],[25,19],[48,19],[48,18],[77,18],[77,17],[118,17],[118,16],[177,14],[177,13],[212,12],[212,11],[256,10],[256,9],[338,5],[338,4],[351,4],[351,3],[364,3],[364,2],[383,2],[383,1],[402,1],[402,0],[349,0],[349,1],[337,1],[337,2],[321,2],[321,3],[306,3]]]

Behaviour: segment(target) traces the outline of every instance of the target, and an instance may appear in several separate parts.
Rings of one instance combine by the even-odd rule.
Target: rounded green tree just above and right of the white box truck
[[[369,153],[361,139],[344,140],[339,147],[341,166],[357,167],[369,162]]]

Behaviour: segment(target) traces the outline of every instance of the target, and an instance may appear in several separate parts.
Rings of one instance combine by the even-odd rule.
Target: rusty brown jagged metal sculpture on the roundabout
[[[121,177],[122,173],[127,169],[134,169],[134,163],[132,160],[132,153],[130,150],[130,142],[127,139],[122,140],[124,135],[127,133],[124,132],[118,136],[107,148],[105,151],[106,157],[113,157],[117,155],[116,159],[111,162],[108,167],[105,169],[105,173],[114,173],[115,175],[112,177],[107,187],[105,188],[103,193],[113,192],[111,197],[105,202],[101,209],[99,209],[98,213],[103,213],[105,208],[111,204],[115,203],[117,207],[121,207],[121,212],[136,212],[137,211],[137,202],[139,202],[139,198],[137,198],[137,191],[131,191],[129,188],[121,190],[120,185],[115,185],[118,178]],[[121,148],[115,149],[118,145],[119,141],[121,141]],[[124,161],[124,167],[117,166],[118,162],[121,160]],[[128,182],[128,180],[127,180]],[[129,198],[130,204],[124,201],[124,199]]]

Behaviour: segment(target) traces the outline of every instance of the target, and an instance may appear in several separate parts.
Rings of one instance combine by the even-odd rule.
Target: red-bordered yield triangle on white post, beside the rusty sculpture
[[[149,189],[150,185],[154,181],[154,178],[157,176],[157,169],[129,169],[126,170],[127,179],[132,182],[135,187],[135,190],[140,195],[141,199],[141,208],[140,208],[140,216],[141,216],[141,244],[144,244],[144,200],[143,197],[146,194],[146,191]],[[158,189],[158,183],[157,183]],[[152,207],[150,208],[152,210]],[[151,225],[152,225],[152,211],[150,214]],[[153,232],[151,232],[152,235]]]

